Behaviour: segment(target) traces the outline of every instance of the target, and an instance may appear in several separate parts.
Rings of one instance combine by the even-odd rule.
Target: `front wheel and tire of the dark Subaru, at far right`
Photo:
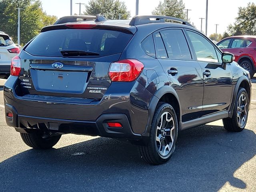
[[[222,120],[227,131],[240,132],[244,130],[248,118],[248,105],[248,94],[244,88],[240,87],[236,95],[232,117]]]

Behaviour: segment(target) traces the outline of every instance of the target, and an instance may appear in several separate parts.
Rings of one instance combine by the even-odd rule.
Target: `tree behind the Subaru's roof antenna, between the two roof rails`
[[[108,19],[128,19],[130,12],[124,2],[119,0],[90,0],[85,6],[85,15],[101,14]]]

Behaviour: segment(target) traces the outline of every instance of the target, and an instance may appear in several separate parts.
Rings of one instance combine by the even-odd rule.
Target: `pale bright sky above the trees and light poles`
[[[70,0],[41,0],[43,10],[47,14],[55,15],[58,18],[70,15]],[[125,2],[131,16],[135,15],[136,0],[121,0]],[[73,0],[73,14],[79,13],[79,5],[75,3],[87,4],[89,0]],[[160,0],[139,0],[139,14],[148,15],[158,6]],[[206,15],[206,0],[183,0],[186,9],[191,9],[188,17],[200,30],[201,20]],[[256,0],[208,0],[208,35],[215,33],[216,26],[219,24],[217,33],[223,33],[230,23],[237,17],[238,7],[246,6],[248,2],[256,3]],[[81,6],[81,12],[85,11],[85,6]],[[205,20],[203,20],[203,31],[205,31]]]

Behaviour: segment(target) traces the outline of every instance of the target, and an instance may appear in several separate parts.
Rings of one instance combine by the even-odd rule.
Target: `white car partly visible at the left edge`
[[[20,49],[12,42],[4,32],[0,32],[0,77],[10,75],[12,58],[20,52]]]

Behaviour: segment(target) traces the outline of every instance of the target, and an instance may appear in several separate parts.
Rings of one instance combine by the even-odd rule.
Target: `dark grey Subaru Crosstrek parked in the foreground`
[[[46,26],[13,58],[6,122],[28,146],[98,135],[162,164],[181,130],[220,119],[228,131],[244,129],[250,75],[233,54],[178,18],[97,21]]]

